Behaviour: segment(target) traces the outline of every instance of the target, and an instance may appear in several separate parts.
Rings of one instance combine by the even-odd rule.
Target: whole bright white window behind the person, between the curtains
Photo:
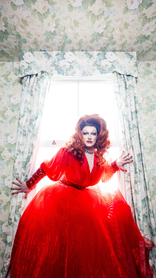
[[[40,148],[35,169],[44,159],[51,158],[60,147],[65,146],[74,133],[78,118],[85,114],[98,113],[107,122],[112,147],[109,156],[119,157],[119,140],[112,74],[103,76],[53,76],[49,95],[46,97],[41,126]],[[38,183],[37,191],[44,184],[52,183],[45,177]],[[101,187],[117,188],[117,174]]]

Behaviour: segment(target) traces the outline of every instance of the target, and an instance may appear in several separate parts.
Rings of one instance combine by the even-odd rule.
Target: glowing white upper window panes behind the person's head
[[[113,107],[112,84],[52,83],[44,108],[42,140],[68,140],[78,118],[95,113],[105,119],[110,136],[115,140]]]

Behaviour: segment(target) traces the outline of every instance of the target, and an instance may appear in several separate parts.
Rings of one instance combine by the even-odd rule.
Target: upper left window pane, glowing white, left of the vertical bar
[[[42,140],[67,140],[78,119],[76,83],[51,84],[42,122]]]

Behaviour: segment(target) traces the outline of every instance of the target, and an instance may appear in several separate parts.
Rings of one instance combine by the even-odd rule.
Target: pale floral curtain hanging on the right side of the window
[[[136,79],[132,76],[113,73],[116,104],[121,121],[122,140],[125,152],[133,157],[133,163],[125,165],[125,190],[128,204],[137,221],[142,236],[146,236],[156,246],[156,225],[149,190],[144,150],[142,147],[139,104]],[[156,274],[156,248],[150,251],[150,264]]]

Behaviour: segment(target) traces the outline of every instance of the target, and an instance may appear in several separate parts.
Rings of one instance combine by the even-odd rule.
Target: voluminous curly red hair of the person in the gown
[[[81,164],[83,163],[85,154],[85,143],[83,142],[83,133],[80,130],[80,125],[84,124],[84,122],[93,122],[97,126],[101,126],[101,131],[98,134],[98,140],[96,142],[98,148],[95,150],[95,154],[98,158],[97,165],[101,167],[105,164],[106,161],[104,154],[107,152],[107,149],[111,147],[112,142],[110,142],[107,123],[98,114],[84,115],[83,117],[80,117],[75,127],[76,132],[69,138],[69,141],[66,143],[67,152],[71,152],[72,154],[74,154],[75,158],[79,160]]]

